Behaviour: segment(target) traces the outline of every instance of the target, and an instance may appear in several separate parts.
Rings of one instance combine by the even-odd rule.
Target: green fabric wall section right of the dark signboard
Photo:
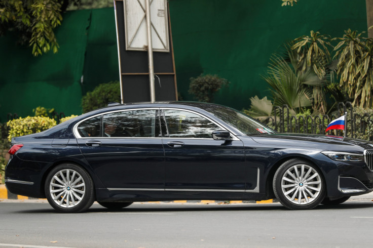
[[[184,100],[189,78],[218,74],[231,81],[215,102],[248,108],[249,98],[269,94],[260,78],[269,58],[286,40],[310,30],[342,36],[367,29],[365,0],[300,0],[281,7],[270,0],[170,0],[177,87]]]

